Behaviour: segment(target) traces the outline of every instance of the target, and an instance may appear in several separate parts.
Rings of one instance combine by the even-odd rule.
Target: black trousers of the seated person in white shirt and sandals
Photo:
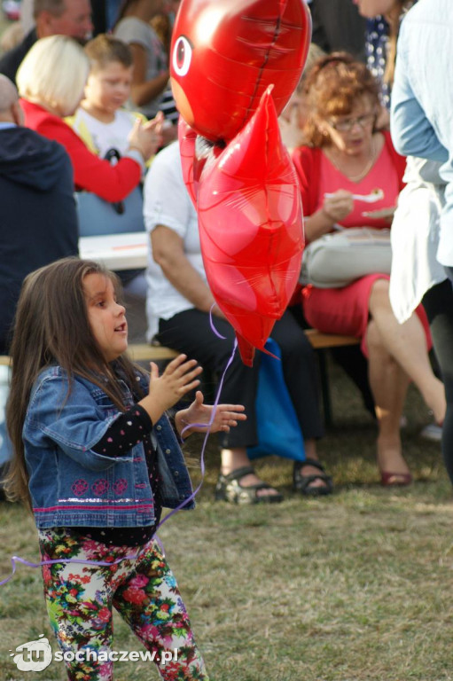
[[[188,309],[171,319],[160,319],[157,338],[162,345],[184,352],[220,377],[231,355],[234,331],[228,322],[218,317],[214,317],[214,325],[226,340],[215,335],[206,312]],[[304,439],[321,437],[324,427],[319,411],[316,358],[290,311],[286,311],[276,322],[271,338],[281,350],[286,387]],[[239,421],[238,427],[231,428],[230,433],[222,435],[221,444],[224,448],[254,447],[258,444],[254,403],[260,356],[261,352],[257,351],[254,366],[247,367],[242,364],[237,351],[225,375],[221,402],[244,404],[247,420]]]

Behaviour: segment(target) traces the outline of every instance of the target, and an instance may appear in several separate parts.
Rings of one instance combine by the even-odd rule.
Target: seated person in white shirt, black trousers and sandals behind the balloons
[[[199,245],[198,220],[187,192],[179,146],[169,145],[152,161],[144,183],[144,223],[150,232],[148,257],[148,339],[196,358],[205,369],[221,375],[233,347],[234,332],[216,306],[215,327],[227,340],[220,340],[210,327],[209,310],[214,298],[207,286]],[[316,456],[316,439],[323,434],[318,409],[316,363],[309,341],[287,311],[277,321],[272,338],[282,354],[285,384],[304,437],[306,460],[294,451],[293,487],[306,495],[328,494],[332,481]],[[254,367],[242,364],[238,353],[226,373],[223,400],[236,395],[246,406],[247,420],[235,433],[224,434],[222,469],[216,498],[237,503],[281,501],[281,495],[259,481],[247,456],[257,442],[255,397],[259,357]],[[297,460],[296,460],[297,459]]]

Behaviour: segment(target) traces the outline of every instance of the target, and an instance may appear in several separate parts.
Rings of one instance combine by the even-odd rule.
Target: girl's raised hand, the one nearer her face
[[[159,375],[157,364],[151,362],[149,394],[139,404],[149,414],[152,423],[156,423],[181,397],[199,385],[197,376],[203,371],[197,360],[187,359],[186,355],[178,355]]]

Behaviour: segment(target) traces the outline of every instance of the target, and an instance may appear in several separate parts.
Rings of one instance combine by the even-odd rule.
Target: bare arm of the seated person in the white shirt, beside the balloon
[[[206,282],[191,265],[184,253],[184,241],[163,224],[158,224],[151,232],[152,257],[170,284],[175,286],[192,305],[203,312],[209,312],[215,299]],[[213,314],[223,317],[222,311],[215,306]],[[224,318],[224,317],[223,317]]]

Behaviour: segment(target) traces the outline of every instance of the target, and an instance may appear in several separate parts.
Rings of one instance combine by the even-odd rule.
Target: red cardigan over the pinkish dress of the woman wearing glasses
[[[394,160],[394,168],[398,174],[399,191],[404,186],[402,176],[406,169],[406,157],[394,151],[390,133],[383,132],[385,144]],[[301,185],[302,208],[304,215],[313,215],[316,211],[316,201],[319,194],[319,180],[321,173],[321,149],[311,146],[300,146],[293,151],[293,163],[299,176]]]

